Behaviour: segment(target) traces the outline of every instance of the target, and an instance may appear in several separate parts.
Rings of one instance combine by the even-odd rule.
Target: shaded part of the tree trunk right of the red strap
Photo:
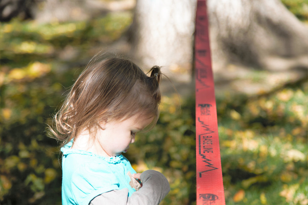
[[[214,62],[307,67],[308,28],[279,0],[209,0],[208,10]]]

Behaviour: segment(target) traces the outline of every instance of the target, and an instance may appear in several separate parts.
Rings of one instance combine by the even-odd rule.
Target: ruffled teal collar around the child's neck
[[[111,156],[111,157],[103,157],[103,156],[94,154],[92,152],[88,152],[88,151],[84,151],[84,150],[79,150],[79,149],[71,149],[72,145],[73,145],[73,141],[70,141],[69,143],[67,143],[66,145],[64,145],[61,148],[61,152],[63,153],[63,155],[81,154],[81,155],[94,156],[94,157],[97,157],[99,159],[102,159],[102,160],[108,162],[109,164],[118,164],[118,163],[121,162],[121,160],[123,160],[123,155]]]

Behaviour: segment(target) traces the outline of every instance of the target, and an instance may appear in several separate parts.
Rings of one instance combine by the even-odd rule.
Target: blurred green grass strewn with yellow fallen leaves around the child
[[[283,2],[307,19],[306,0]],[[93,48],[116,42],[132,16],[1,23],[1,204],[61,204],[61,154],[46,124]],[[305,80],[253,97],[217,95],[226,204],[308,204],[307,91]],[[156,127],[139,134],[126,156],[136,171],[155,169],[168,178],[171,191],[162,204],[194,204],[194,96],[163,101]]]

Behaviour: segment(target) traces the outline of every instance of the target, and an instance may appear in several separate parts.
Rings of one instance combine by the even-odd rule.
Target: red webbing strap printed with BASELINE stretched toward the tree
[[[197,205],[225,205],[206,10],[206,0],[198,0],[195,31]]]

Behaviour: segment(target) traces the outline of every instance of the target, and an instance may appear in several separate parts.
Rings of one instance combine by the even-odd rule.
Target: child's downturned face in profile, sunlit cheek
[[[148,126],[153,118],[133,116],[124,121],[101,124],[104,129],[97,132],[96,140],[102,148],[102,155],[118,156],[127,152],[129,144],[135,141],[136,132]]]

